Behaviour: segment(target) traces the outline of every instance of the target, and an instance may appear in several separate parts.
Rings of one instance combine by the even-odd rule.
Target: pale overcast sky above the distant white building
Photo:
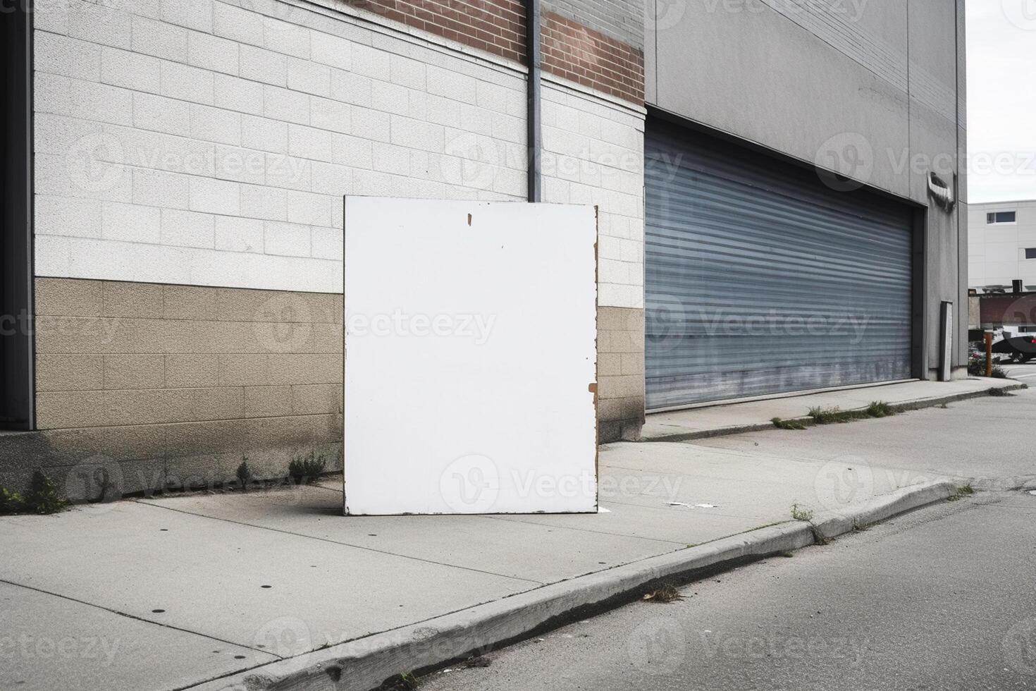
[[[968,0],[968,201],[1036,199],[1036,0]]]

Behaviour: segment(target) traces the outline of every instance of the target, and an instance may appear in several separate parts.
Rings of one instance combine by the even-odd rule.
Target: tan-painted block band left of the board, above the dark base
[[[341,413],[342,296],[36,281],[36,427]]]

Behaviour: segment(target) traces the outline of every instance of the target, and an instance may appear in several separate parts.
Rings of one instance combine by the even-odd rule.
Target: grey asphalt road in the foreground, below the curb
[[[439,671],[426,691],[1036,689],[1036,496],[979,493]]]

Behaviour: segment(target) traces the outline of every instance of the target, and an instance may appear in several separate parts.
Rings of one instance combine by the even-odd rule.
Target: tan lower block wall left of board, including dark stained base
[[[337,294],[37,279],[39,431],[0,457],[56,480],[114,463],[123,493],[230,482],[246,457],[339,469],[342,329]]]

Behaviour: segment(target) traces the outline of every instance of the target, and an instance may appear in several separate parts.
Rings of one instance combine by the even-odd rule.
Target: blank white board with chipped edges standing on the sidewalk
[[[597,213],[345,199],[345,513],[597,510]]]

